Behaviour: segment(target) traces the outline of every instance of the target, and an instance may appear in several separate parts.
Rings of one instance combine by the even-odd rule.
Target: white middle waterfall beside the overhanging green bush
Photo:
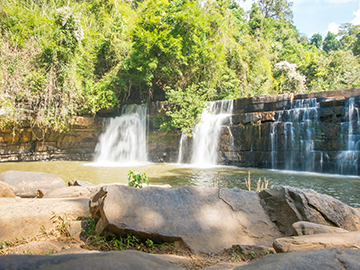
[[[231,121],[233,111],[233,100],[222,100],[211,102],[203,110],[200,122],[193,131],[193,144],[190,163],[199,167],[214,166],[218,160],[218,143],[221,128],[226,120]],[[230,123],[231,125],[231,123]],[[188,139],[182,135],[179,148],[179,162],[184,161],[188,154],[185,146]],[[230,132],[230,140],[232,134]],[[233,141],[233,140],[232,140]]]

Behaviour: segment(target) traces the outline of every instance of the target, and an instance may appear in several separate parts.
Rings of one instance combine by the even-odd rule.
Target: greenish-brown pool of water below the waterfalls
[[[266,177],[270,186],[292,186],[295,188],[314,189],[323,194],[333,196],[352,206],[360,207],[360,177],[327,175],[295,171],[277,171],[264,169],[249,169],[232,166],[214,166],[196,168],[184,164],[148,163],[126,167],[99,166],[96,163],[79,161],[50,162],[9,162],[0,163],[0,173],[8,170],[34,171],[51,173],[64,181],[81,180],[94,184],[127,183],[128,170],[145,172],[152,185],[169,184],[176,186],[213,186],[214,176],[220,173],[221,187],[247,189],[245,178],[251,174],[252,190],[256,190],[259,178]],[[217,182],[215,184],[217,186]]]

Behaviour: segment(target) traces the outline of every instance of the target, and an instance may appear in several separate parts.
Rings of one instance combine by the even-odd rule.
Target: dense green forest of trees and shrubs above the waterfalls
[[[287,0],[1,0],[0,128],[67,129],[124,103],[172,104],[360,86],[360,26],[300,34]]]

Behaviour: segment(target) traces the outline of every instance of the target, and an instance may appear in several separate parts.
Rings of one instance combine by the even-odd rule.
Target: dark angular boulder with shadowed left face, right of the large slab
[[[292,224],[298,221],[360,230],[358,210],[312,189],[276,187],[259,195],[265,211],[284,235],[293,235]]]

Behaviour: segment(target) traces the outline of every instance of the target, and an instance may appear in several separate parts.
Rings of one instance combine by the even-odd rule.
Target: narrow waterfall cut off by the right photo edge
[[[341,124],[341,134],[343,142],[346,144],[346,150],[338,155],[338,166],[341,174],[358,174],[357,161],[359,158],[358,144],[359,136],[356,136],[360,127],[359,109],[355,107],[355,99],[350,98],[347,101],[346,117],[348,122]]]

